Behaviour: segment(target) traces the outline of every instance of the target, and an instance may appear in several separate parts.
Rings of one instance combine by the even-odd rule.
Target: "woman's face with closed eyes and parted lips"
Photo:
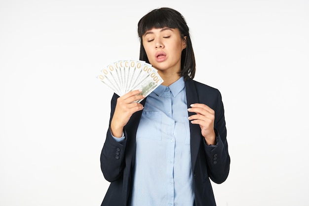
[[[181,38],[178,29],[151,29],[142,39],[149,63],[158,69],[159,73],[179,75],[181,53],[186,48],[186,41]]]

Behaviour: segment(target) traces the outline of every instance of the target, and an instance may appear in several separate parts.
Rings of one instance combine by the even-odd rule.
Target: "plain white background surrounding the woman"
[[[112,92],[96,75],[139,58],[138,20],[162,6],[223,96],[217,205],[308,206],[308,0],[0,0],[0,206],[101,204]]]

